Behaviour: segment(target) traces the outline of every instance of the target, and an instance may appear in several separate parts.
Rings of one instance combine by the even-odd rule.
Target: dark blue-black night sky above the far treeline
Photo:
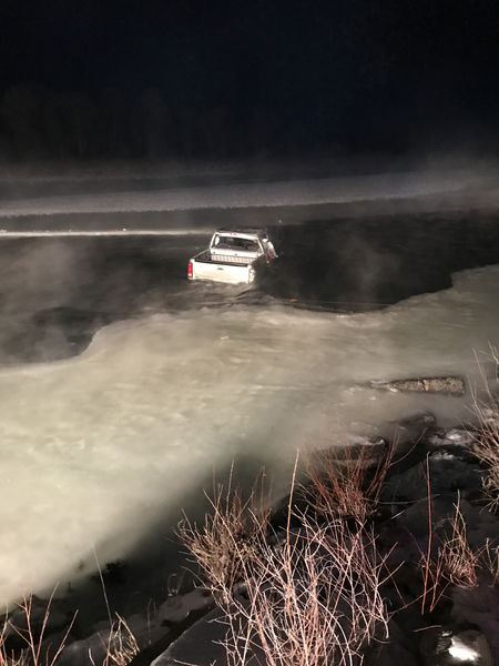
[[[3,0],[1,16],[0,93],[153,88],[241,132],[273,118],[302,147],[499,148],[497,0]]]

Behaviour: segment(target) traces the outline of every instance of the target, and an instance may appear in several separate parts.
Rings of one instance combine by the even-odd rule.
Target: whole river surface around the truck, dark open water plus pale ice
[[[166,233],[0,239],[1,604],[95,558],[167,553],[182,508],[234,460],[278,484],[297,448],[342,433],[466,418],[469,393],[363,384],[479,382],[477,356],[499,345],[499,213],[291,203],[40,216],[37,203],[2,222]],[[234,224],[269,228],[275,271],[249,291],[189,284],[186,260]]]

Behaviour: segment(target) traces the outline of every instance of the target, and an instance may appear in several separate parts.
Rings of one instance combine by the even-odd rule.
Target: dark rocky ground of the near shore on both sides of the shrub
[[[439,385],[444,391],[449,386],[460,391],[459,382],[454,380],[440,381]],[[396,390],[403,389],[399,382]],[[407,390],[428,387],[409,383]],[[369,636],[363,646],[364,660],[377,666],[395,665],[401,659],[406,666],[497,666],[499,515],[493,497],[497,488],[490,485],[492,463],[480,455],[480,442],[489,437],[490,444],[492,437],[499,465],[497,405],[481,408],[479,421],[462,427],[442,430],[426,413],[400,422],[396,430],[405,433],[404,451],[379,437],[364,442],[369,446],[345,448],[343,461],[334,450],[338,468],[346,464],[348,474],[359,468],[356,465],[361,458],[367,470],[364,478],[373,478],[384,452],[391,452],[376,506],[366,516],[387,572],[380,584],[387,635],[375,630]],[[364,453],[353,463],[354,450]],[[343,517],[356,519],[353,515]],[[271,521],[275,534],[285,532],[278,511]],[[449,562],[456,571],[446,569]],[[441,571],[435,568],[438,566]],[[462,571],[457,571],[459,566]],[[28,639],[40,644],[40,652],[38,660],[33,653],[24,657],[23,664],[225,664],[225,649],[216,644],[223,642],[226,632],[226,624],[220,622],[223,617],[216,589],[206,576],[204,585],[171,596],[144,614],[122,618],[112,616],[110,609],[109,620],[90,630],[78,625],[68,599],[32,597],[4,618],[2,650],[19,656]],[[47,659],[40,655],[47,655]],[[354,663],[359,659],[356,655]],[[3,663],[21,662],[6,657],[4,662],[0,659]]]

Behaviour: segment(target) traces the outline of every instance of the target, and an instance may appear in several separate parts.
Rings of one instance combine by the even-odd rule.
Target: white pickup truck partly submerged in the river
[[[189,260],[189,280],[211,280],[231,284],[251,284],[258,265],[276,259],[272,241],[265,231],[245,229],[215,231],[207,250]]]

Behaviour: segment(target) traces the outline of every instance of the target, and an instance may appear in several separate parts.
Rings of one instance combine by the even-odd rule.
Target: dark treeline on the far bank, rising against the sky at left
[[[246,121],[240,134],[225,109],[166,104],[154,89],[132,98],[115,88],[92,95],[13,85],[0,101],[0,151],[12,160],[223,157],[267,145],[272,121],[258,111]]]

